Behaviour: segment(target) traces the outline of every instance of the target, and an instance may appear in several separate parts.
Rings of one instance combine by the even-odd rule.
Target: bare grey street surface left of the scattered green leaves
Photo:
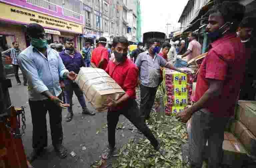
[[[12,81],[12,88],[9,88],[12,105],[15,107],[27,107],[25,109],[26,130],[22,141],[25,152],[29,155],[33,150],[33,126],[28,105],[27,86],[18,86],[13,76],[9,77],[9,79]],[[22,76],[20,76],[20,79],[23,83]],[[63,145],[68,149],[68,157],[60,159],[54,152],[50,135],[49,116],[47,114],[48,147],[45,152],[32,163],[34,168],[89,168],[94,161],[99,160],[99,157],[108,145],[106,127],[107,112],[96,112],[94,116],[82,114],[82,108],[75,94],[73,96],[73,103],[74,117],[71,122],[65,121],[67,110],[64,109],[62,111]],[[90,110],[94,110],[91,104],[87,103],[87,107]],[[135,127],[123,116],[120,116],[117,127],[119,128],[116,130],[116,145],[118,149],[123,144],[126,144],[132,136],[142,136],[134,130]],[[75,157],[70,155],[72,151],[77,154]]]

